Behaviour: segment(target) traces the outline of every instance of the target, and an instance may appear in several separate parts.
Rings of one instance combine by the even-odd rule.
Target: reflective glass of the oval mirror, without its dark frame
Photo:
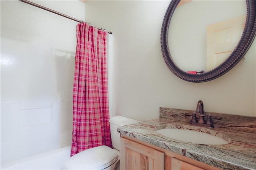
[[[170,21],[168,45],[183,71],[210,71],[236,47],[246,21],[245,1],[180,2]]]

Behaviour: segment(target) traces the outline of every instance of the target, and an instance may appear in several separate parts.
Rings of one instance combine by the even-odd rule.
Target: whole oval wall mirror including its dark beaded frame
[[[173,0],[162,24],[162,55],[181,79],[210,81],[242,59],[255,37],[255,27],[256,1]]]

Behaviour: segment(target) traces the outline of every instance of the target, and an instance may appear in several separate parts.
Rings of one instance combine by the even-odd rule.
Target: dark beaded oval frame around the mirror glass
[[[250,48],[255,35],[256,35],[256,0],[246,0],[246,23],[244,32],[238,44],[236,45],[234,51],[230,54],[230,56],[218,67],[207,71],[202,74],[190,74],[182,69],[180,69],[173,61],[172,56],[170,55],[169,47],[168,47],[168,29],[170,25],[170,20],[172,18],[172,14],[174,13],[175,8],[179,4],[180,0],[172,0],[166,10],[164,20],[162,23],[161,30],[161,49],[162,55],[164,57],[164,61],[168,68],[179,78],[194,82],[200,83],[205,81],[210,81],[220,77],[221,75],[228,72],[232,69],[241,59],[244,57],[245,53]]]

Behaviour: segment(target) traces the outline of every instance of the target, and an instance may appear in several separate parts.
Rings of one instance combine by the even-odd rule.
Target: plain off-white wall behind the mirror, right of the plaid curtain
[[[86,21],[113,32],[112,115],[148,120],[159,117],[159,107],[195,110],[202,100],[205,111],[256,116],[256,41],[225,75],[204,83],[186,82],[172,74],[161,53],[168,4],[86,1]]]

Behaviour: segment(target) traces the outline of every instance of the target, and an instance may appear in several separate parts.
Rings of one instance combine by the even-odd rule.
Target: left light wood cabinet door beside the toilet
[[[121,170],[164,170],[164,152],[120,138]]]

